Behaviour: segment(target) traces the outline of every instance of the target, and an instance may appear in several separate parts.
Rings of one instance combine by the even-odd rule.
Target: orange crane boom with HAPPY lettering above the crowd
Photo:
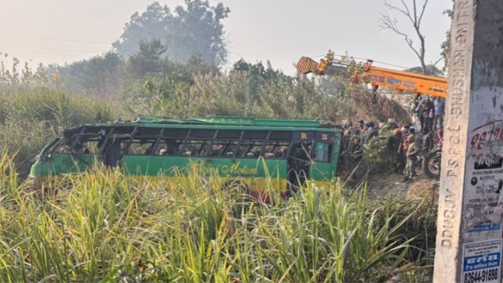
[[[309,57],[302,57],[297,63],[297,72],[308,74],[313,71],[323,74],[327,66],[334,63],[333,59],[321,59],[316,63]],[[397,92],[409,91],[414,94],[427,94],[437,97],[447,96],[447,79],[441,77],[426,76],[401,70],[376,67],[372,65],[372,60],[367,60],[363,70],[355,70],[351,76],[351,83],[370,83],[374,90],[379,87],[393,88]],[[344,62],[337,61],[338,65]]]

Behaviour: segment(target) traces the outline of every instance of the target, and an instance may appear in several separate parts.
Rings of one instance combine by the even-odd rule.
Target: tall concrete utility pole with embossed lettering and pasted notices
[[[455,0],[435,282],[500,282],[503,0]]]

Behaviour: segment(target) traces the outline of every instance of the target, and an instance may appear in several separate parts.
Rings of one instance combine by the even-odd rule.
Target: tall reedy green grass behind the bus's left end
[[[51,88],[4,87],[0,92],[0,152],[15,155],[26,176],[35,156],[63,128],[113,121],[109,102]]]

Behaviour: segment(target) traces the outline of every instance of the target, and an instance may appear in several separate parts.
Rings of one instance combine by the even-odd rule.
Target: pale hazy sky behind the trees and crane
[[[393,0],[391,0],[393,1]],[[394,0],[396,3],[399,0]],[[111,48],[124,23],[151,0],[0,0],[0,52],[29,61],[35,67],[91,57]],[[160,0],[171,8],[183,0]],[[418,59],[403,38],[380,31],[381,0],[210,0],[230,8],[224,21],[229,63],[269,59],[274,68],[293,74],[301,56],[331,48],[355,57],[400,66]],[[411,2],[405,0],[405,2]],[[428,61],[440,58],[440,44],[450,27],[442,12],[451,0],[430,0],[423,19]],[[412,32],[402,17],[404,30]],[[415,37],[413,37],[415,39]],[[5,60],[5,59],[4,59]],[[12,60],[8,60],[8,63]]]

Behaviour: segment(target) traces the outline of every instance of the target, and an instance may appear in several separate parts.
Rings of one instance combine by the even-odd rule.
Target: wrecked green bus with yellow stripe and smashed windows
[[[336,175],[341,131],[315,120],[209,116],[86,124],[66,129],[44,147],[30,171],[40,188],[49,176],[64,176],[96,161],[125,176],[170,178],[191,166],[239,184],[254,197],[268,176],[282,193],[300,183],[326,185]],[[182,172],[182,173],[181,173]],[[300,182],[300,183],[299,183]]]

